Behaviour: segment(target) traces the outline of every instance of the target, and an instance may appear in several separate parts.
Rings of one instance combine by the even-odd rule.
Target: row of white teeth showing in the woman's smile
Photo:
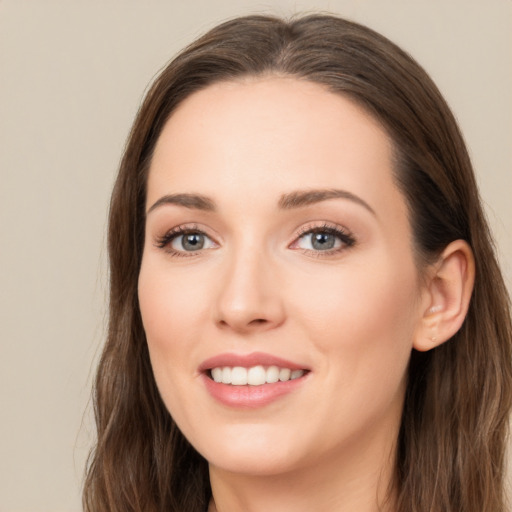
[[[231,384],[233,386],[261,386],[263,384],[274,384],[275,382],[286,382],[302,377],[304,370],[290,370],[289,368],[278,368],[262,365],[243,368],[242,366],[224,366],[212,368],[211,376],[215,382]]]

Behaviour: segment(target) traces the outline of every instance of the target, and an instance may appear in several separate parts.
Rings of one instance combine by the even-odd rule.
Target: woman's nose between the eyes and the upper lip
[[[285,310],[278,272],[263,251],[232,254],[220,273],[215,308],[216,324],[249,334],[278,327]]]

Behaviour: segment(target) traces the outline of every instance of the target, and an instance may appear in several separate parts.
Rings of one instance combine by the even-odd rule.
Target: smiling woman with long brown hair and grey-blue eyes
[[[509,302],[455,120],[387,39],[247,17],[113,192],[89,511],[504,512]]]

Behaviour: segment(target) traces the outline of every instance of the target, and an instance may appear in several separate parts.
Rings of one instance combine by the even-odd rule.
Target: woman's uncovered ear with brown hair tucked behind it
[[[449,340],[461,327],[475,281],[473,251],[463,240],[449,244],[427,278],[422,316],[413,347],[430,350]]]

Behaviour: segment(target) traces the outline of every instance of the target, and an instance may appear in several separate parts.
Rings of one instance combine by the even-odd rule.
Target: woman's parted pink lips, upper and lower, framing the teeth
[[[207,359],[199,366],[202,373],[202,380],[210,395],[228,407],[254,409],[263,407],[274,402],[278,398],[292,393],[302,386],[309,376],[309,371],[302,377],[286,382],[276,382],[274,384],[262,384],[261,386],[232,386],[215,382],[210,378],[209,371],[212,368],[221,366],[241,366],[250,368],[251,366],[278,366],[280,368],[290,368],[291,370],[308,370],[292,361],[281,359],[270,354],[253,352],[252,354],[220,354]]]

